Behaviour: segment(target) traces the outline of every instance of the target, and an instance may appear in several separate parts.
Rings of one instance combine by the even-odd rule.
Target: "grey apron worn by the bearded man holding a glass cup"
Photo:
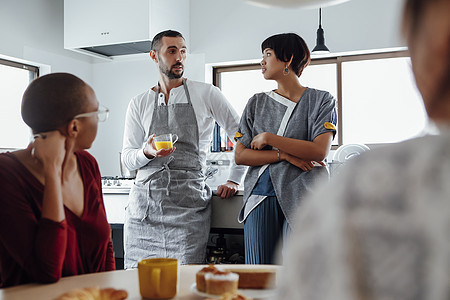
[[[139,169],[131,188],[124,225],[125,267],[148,257],[172,257],[182,264],[204,263],[210,230],[211,190],[199,156],[195,111],[185,80],[187,103],[158,105],[149,133],[175,133],[176,150]]]

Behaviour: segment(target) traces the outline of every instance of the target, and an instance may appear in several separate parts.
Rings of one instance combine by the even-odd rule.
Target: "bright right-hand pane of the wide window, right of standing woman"
[[[409,57],[342,62],[343,143],[399,142],[419,135],[427,116]]]

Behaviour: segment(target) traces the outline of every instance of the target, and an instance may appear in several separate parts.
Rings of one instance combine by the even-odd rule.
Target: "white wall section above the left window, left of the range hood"
[[[70,72],[91,83],[91,59],[64,50],[63,1],[1,0],[0,54]]]

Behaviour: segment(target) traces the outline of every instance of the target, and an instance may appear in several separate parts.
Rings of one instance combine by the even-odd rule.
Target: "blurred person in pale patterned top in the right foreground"
[[[304,203],[277,299],[450,299],[450,1],[406,0],[403,32],[440,134],[361,155]]]

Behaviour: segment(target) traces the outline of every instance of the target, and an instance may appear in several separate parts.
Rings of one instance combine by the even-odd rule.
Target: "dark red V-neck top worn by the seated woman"
[[[97,162],[75,154],[84,211],[64,207],[62,222],[41,218],[44,186],[13,154],[0,154],[0,287],[115,269]]]

